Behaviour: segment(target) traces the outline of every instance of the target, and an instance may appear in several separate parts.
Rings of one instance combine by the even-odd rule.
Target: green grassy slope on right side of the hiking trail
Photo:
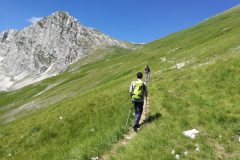
[[[172,150],[181,156],[187,150],[184,159],[239,159],[239,21],[238,7],[145,46],[148,63],[159,71],[150,85],[151,115],[162,117],[119,148],[115,159],[175,159]],[[168,68],[184,61],[182,70]],[[200,131],[197,138],[183,137],[192,128]]]

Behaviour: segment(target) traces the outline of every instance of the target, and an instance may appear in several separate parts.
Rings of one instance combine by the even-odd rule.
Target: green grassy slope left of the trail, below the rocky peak
[[[70,95],[70,98],[2,125],[1,158],[7,159],[11,154],[16,159],[85,159],[98,155],[106,146],[115,142],[126,131],[122,126],[130,102],[129,96],[125,94],[128,85],[124,84],[127,78],[124,75],[130,71],[124,68],[126,65],[121,66],[119,63],[127,56],[125,53],[130,51],[114,48],[108,52],[105,58],[111,61],[89,63],[81,66],[81,70],[74,70],[74,65],[64,74],[37,85],[2,93],[2,107],[15,102],[15,106],[4,109],[2,115],[10,108],[25,102],[35,102],[35,99],[44,103],[47,99],[61,95]],[[34,97],[56,81],[61,83]],[[122,102],[118,103],[118,99]]]

